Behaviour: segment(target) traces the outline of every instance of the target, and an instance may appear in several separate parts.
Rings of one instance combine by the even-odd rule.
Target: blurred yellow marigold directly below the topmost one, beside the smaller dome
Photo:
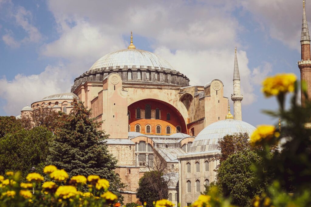
[[[271,138],[279,137],[280,133],[275,132],[276,128],[273,125],[259,125],[257,129],[253,132],[250,140],[251,144],[255,145],[257,142],[260,142],[262,139],[270,140]]]

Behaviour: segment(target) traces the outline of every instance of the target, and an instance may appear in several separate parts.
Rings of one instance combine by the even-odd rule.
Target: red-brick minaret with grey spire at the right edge
[[[307,86],[307,94],[311,100],[311,61],[310,61],[310,35],[308,29],[308,22],[306,17],[305,2],[303,0],[303,15],[301,27],[301,61],[298,61],[300,69],[301,82],[305,82]],[[303,84],[303,83],[302,83]],[[305,96],[301,92],[301,105],[304,106]]]

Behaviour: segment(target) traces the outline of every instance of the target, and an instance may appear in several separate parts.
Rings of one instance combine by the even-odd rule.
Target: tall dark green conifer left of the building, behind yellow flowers
[[[72,106],[69,115],[63,115],[61,126],[49,143],[47,164],[66,170],[69,177],[99,175],[110,182],[110,190],[120,199],[119,191],[124,184],[114,173],[117,160],[105,144],[109,135],[98,130],[101,122],[90,118],[91,109],[86,109],[81,101],[74,99]]]

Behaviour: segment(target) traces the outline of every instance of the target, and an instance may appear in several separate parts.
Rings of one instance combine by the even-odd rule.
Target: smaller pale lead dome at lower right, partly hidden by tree
[[[255,127],[244,121],[225,119],[205,127],[194,139],[190,152],[204,152],[218,150],[218,140],[225,135],[235,133],[248,133],[255,131]]]

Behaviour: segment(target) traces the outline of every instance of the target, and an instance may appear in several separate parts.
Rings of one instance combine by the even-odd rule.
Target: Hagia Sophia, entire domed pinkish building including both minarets
[[[310,83],[310,37],[304,7],[301,47],[301,80]],[[101,57],[74,80],[71,92],[37,100],[16,119],[45,107],[68,114],[74,98],[84,102],[92,109],[92,118],[103,121],[101,129],[110,134],[106,144],[118,159],[115,172],[127,184],[122,192],[124,203],[139,202],[139,179],[160,162],[172,175],[168,199],[176,206],[187,206],[204,191],[204,185],[216,180],[214,169],[219,161],[211,158],[220,153],[218,140],[227,134],[250,135],[256,129],[242,121],[236,48],[234,55],[233,115],[221,80],[191,86],[187,76],[165,59],[136,49],[131,34],[127,49]],[[311,84],[307,92],[311,97]]]

